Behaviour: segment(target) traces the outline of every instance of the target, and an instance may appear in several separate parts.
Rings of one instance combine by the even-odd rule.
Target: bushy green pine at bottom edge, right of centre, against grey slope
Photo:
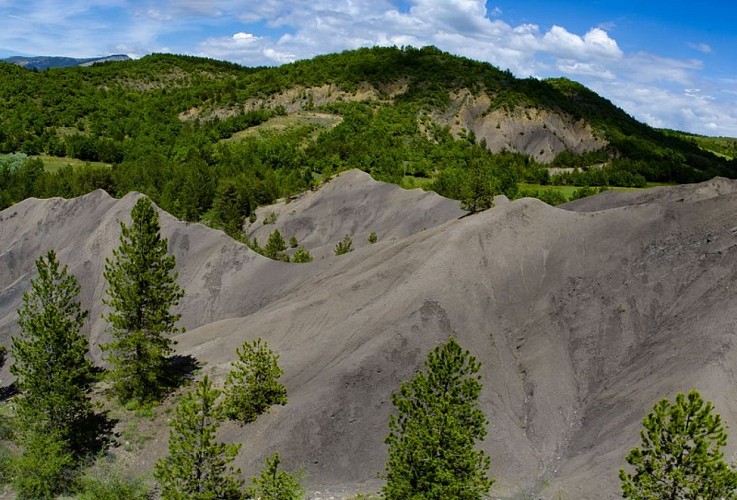
[[[480,363],[451,338],[425,361],[426,370],[392,394],[387,499],[478,499],[488,494],[490,459],[475,448],[488,421],[478,407]]]

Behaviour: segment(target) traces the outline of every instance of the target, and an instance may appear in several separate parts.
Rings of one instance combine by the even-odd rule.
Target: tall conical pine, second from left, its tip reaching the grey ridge
[[[132,223],[121,222],[120,246],[105,262],[108,299],[106,319],[113,340],[102,346],[111,365],[114,392],[123,400],[146,402],[160,397],[166,386],[170,335],[178,314],[170,309],[184,292],[176,282],[175,258],[159,234],[159,216],[148,198],[139,198]]]

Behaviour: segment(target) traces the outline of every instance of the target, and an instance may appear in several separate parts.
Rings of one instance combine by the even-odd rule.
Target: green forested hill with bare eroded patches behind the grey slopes
[[[44,71],[0,64],[0,104],[0,208],[136,190],[231,233],[257,205],[355,167],[471,209],[489,193],[519,196],[521,182],[642,186],[737,173],[734,159],[641,124],[575,82],[517,79],[433,47],[277,68],[160,54]],[[54,157],[91,163],[51,168]],[[553,180],[551,166],[584,171]]]

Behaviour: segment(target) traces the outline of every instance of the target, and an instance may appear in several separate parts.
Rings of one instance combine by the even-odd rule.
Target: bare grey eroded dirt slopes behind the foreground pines
[[[457,206],[439,208],[447,200],[387,194],[395,189],[348,173],[285,205],[304,201],[295,217],[315,228],[297,236],[315,248],[332,248],[344,232],[355,243],[382,233],[310,264],[272,262],[162,215],[187,291],[177,350],[219,381],[245,340],[262,337],[281,355],[289,403],[222,429],[243,443],[244,476],[278,450],[288,468],[304,470],[313,496],[378,489],[391,392],[450,335],[483,362],[494,497],[618,497],[617,471],[642,418],[677,391],[700,390],[735,428],[735,182],[606,192],[563,208],[522,199],[460,219]],[[368,212],[329,201],[364,198]],[[0,212],[4,345],[34,259],[55,248],[82,283],[100,360],[102,267],[135,199],[98,191]],[[159,424],[141,467],[165,453]],[[733,436],[730,460],[736,444]]]

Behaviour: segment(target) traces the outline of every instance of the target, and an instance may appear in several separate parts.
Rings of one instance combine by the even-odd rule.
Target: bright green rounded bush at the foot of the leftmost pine
[[[71,486],[75,467],[62,436],[53,432],[27,434],[23,453],[12,460],[13,489],[19,498],[56,498]]]

